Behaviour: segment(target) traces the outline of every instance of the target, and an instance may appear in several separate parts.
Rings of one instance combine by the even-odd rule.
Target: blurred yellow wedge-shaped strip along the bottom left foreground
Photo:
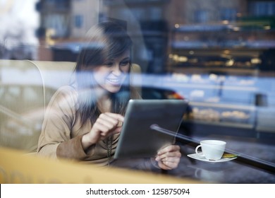
[[[0,148],[0,183],[161,184],[199,183],[197,180],[120,168],[99,168],[68,161],[54,161]]]

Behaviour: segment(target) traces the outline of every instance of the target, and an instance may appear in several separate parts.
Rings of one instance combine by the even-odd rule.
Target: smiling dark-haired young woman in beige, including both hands
[[[108,165],[113,161],[128,100],[140,95],[130,87],[132,41],[114,22],[87,33],[89,45],[78,57],[75,82],[59,88],[47,107],[39,137],[39,155]],[[176,168],[179,146],[161,149],[159,168]]]

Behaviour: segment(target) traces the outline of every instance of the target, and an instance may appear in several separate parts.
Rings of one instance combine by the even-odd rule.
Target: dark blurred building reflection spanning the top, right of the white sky
[[[41,4],[42,27],[54,29],[59,40],[78,40],[105,18],[127,21],[131,36],[138,40],[133,58],[145,72],[173,71],[174,66],[274,70],[270,54],[275,47],[275,1],[42,0]]]

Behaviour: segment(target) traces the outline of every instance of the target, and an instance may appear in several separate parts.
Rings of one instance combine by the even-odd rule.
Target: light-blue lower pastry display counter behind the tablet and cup
[[[261,81],[256,76],[173,73],[164,84],[189,100],[184,124],[192,125],[193,133],[255,137],[275,132],[273,121],[264,119],[275,112],[264,86],[275,81]]]

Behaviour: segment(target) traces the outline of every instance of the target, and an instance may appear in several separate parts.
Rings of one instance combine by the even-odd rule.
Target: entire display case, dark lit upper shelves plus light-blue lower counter
[[[265,61],[274,62],[267,57],[274,42],[262,40],[263,35],[273,36],[257,29],[251,42],[245,30],[235,31],[232,24],[175,25],[169,42],[168,84],[190,101],[184,122],[193,126],[193,133],[274,133],[275,81],[264,77],[274,76],[270,71],[274,66]]]

